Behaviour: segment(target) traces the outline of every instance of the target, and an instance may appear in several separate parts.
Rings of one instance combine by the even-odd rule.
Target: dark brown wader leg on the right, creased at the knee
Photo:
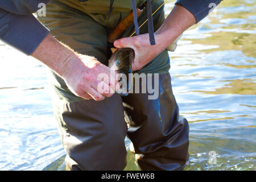
[[[154,78],[152,78],[154,81]],[[131,122],[127,136],[137,162],[143,170],[178,170],[184,167],[188,154],[189,127],[179,117],[179,107],[172,93],[169,73],[159,75],[159,97],[148,100],[148,94],[123,97]]]

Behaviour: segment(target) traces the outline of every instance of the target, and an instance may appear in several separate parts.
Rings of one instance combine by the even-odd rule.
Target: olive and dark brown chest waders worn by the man
[[[155,11],[163,1],[152,1]],[[131,11],[130,0],[115,0],[109,19],[108,0],[53,0],[47,16],[39,20],[51,34],[75,51],[96,57],[108,65],[107,34]],[[139,3],[139,1],[136,1]],[[144,10],[138,24],[147,19]],[[163,8],[154,16],[157,30],[164,21]],[[130,26],[123,37],[133,33]],[[147,26],[141,28],[147,32]],[[159,96],[148,100],[148,93],[127,97],[114,94],[104,101],[83,100],[68,90],[64,80],[51,72],[52,101],[58,130],[69,170],[123,170],[126,166],[125,137],[133,142],[137,162],[143,170],[177,170],[184,167],[188,152],[188,122],[179,117],[172,93],[170,59],[163,51],[138,73],[159,73]],[[154,80],[154,74],[153,74]],[[147,80],[146,80],[147,81]],[[142,80],[140,81],[142,84]],[[129,128],[124,117],[129,115]]]

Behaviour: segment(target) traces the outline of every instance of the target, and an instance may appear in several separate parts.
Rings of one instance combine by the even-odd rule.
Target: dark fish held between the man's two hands
[[[126,76],[126,80],[120,78],[122,81],[122,89],[126,87],[125,92],[120,91],[121,96],[128,96],[129,90],[133,87],[133,69],[131,64],[135,57],[134,49],[132,48],[118,48],[109,59],[109,68],[114,70],[122,77]]]

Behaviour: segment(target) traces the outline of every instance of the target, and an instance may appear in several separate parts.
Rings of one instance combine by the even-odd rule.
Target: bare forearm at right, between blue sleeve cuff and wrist
[[[156,44],[166,48],[195,23],[196,18],[192,13],[182,6],[175,5],[162,26],[155,32]]]

